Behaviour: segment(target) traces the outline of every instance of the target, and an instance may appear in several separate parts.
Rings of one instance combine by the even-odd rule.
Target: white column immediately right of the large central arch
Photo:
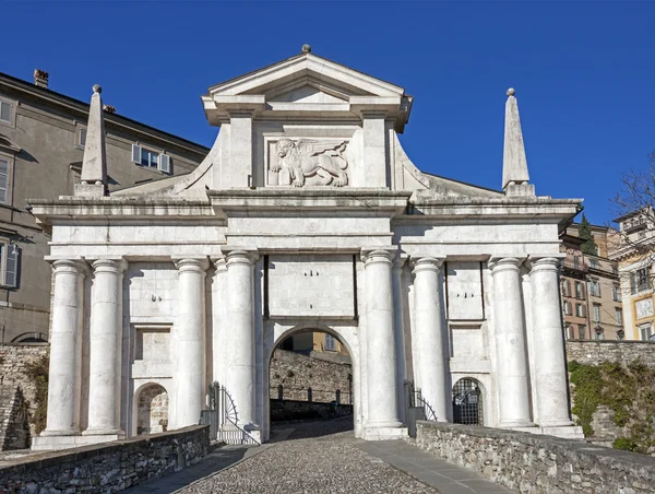
[[[401,427],[396,401],[392,254],[364,256],[366,273],[366,365],[368,420],[365,427]]]

